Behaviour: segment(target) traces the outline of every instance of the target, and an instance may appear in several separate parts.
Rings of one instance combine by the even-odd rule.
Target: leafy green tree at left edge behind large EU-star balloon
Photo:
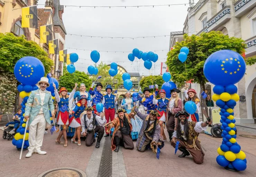
[[[27,41],[25,36],[16,37],[12,33],[0,33],[0,68],[13,73],[16,62],[25,56],[38,58],[44,64],[45,73],[51,72],[53,60],[37,43]]]

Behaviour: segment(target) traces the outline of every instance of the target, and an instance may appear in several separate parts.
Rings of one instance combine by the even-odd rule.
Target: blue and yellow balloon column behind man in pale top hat
[[[22,115],[20,117],[20,127],[17,129],[12,144],[16,146],[18,150],[21,149],[23,137],[25,136],[25,143],[23,149],[27,149],[28,143],[28,130],[25,132],[26,122],[24,119],[24,113],[28,97],[32,90],[37,90],[35,85],[40,78],[44,76],[45,69],[43,63],[31,56],[20,58],[14,66],[14,75],[16,79],[21,83],[17,89],[20,92],[19,95],[23,99],[21,103]]]

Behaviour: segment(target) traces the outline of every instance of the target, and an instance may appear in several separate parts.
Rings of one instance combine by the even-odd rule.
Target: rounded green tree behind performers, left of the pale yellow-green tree
[[[75,86],[75,83],[78,84],[78,87],[81,83],[84,83],[86,90],[88,91],[92,85],[92,80],[89,78],[85,72],[75,71],[74,73],[65,73],[60,77],[59,89],[61,87],[66,87],[68,92],[71,92]]]

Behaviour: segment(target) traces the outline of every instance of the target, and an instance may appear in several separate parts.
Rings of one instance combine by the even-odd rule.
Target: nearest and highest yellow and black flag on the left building
[[[21,16],[22,28],[38,28],[37,6],[22,8]]]

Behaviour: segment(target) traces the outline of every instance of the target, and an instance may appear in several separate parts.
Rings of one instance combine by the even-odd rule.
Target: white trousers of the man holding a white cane
[[[43,144],[46,120],[43,114],[37,114],[35,119],[29,125],[28,151],[39,150]]]

